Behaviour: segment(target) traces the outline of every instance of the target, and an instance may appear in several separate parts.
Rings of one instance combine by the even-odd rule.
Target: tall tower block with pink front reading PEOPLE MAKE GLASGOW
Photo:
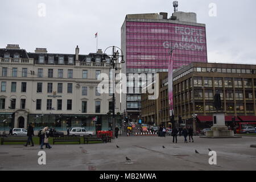
[[[156,73],[168,71],[170,48],[175,48],[174,68],[191,62],[207,62],[205,24],[197,23],[195,13],[129,14],[121,28],[121,47],[126,65],[122,72]],[[141,84],[134,93],[122,95],[122,113],[138,119],[141,108]]]

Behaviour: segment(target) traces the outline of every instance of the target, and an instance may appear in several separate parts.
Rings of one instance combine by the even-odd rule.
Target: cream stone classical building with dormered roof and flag
[[[102,63],[102,55],[101,49],[80,55],[78,46],[75,54],[47,53],[46,48],[30,53],[13,44],[0,49],[0,130],[28,123],[36,129],[108,130],[112,94],[96,89],[98,75],[110,75],[110,59]],[[117,67],[120,72],[121,64]],[[119,102],[116,94],[115,113]]]

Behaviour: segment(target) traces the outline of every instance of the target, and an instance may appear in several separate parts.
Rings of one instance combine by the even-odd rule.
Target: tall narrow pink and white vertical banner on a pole
[[[170,116],[174,115],[174,93],[172,90],[172,72],[174,70],[174,50],[171,50],[168,64],[168,96]]]

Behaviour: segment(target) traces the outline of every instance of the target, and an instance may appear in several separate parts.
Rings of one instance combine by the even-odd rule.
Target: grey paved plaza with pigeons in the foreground
[[[195,143],[178,137],[177,144],[171,140],[119,137],[112,143],[55,144],[44,150],[46,165],[38,164],[39,146],[5,145],[0,146],[0,170],[256,170],[256,148],[250,147],[256,137],[195,137]],[[217,152],[217,165],[209,165],[208,148]]]

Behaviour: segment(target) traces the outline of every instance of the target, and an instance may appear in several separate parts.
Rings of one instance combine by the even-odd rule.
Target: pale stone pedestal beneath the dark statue
[[[225,125],[225,113],[216,112],[213,114],[213,126],[211,131],[206,132],[206,137],[234,137],[234,131],[228,130]]]

